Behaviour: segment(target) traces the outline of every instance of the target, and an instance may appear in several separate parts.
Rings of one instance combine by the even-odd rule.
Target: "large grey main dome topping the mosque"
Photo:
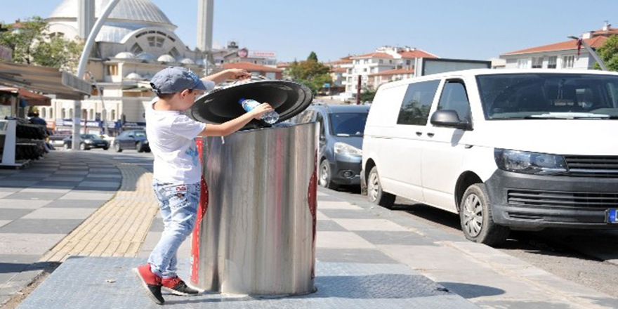
[[[47,21],[70,25],[77,29],[77,4],[81,0],[64,0],[53,10]],[[95,16],[99,18],[111,0],[95,0]],[[176,29],[169,18],[150,0],[120,0],[105,21],[96,41],[119,43],[126,34],[145,27]]]

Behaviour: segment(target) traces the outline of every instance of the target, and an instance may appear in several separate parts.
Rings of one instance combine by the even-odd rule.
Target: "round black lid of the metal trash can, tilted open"
[[[270,104],[279,113],[278,122],[281,122],[303,112],[313,101],[313,93],[307,86],[294,81],[263,80],[231,84],[198,98],[188,115],[197,121],[221,124],[245,113],[239,104],[241,99]],[[254,119],[243,129],[268,126]]]

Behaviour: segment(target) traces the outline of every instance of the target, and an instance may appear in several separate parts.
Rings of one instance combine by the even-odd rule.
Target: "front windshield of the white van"
[[[477,77],[485,119],[618,119],[618,76],[489,74]]]

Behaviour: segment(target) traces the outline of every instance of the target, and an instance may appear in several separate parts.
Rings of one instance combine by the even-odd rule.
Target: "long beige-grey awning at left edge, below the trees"
[[[56,98],[81,100],[91,94],[91,84],[69,72],[52,67],[20,65],[0,61],[0,84],[28,88]]]

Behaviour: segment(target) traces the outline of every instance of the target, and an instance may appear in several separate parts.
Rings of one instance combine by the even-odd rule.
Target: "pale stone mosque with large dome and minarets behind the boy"
[[[68,39],[84,38],[81,29],[84,20],[93,25],[110,0],[91,1],[92,8],[84,12],[79,0],[63,0],[46,18],[49,31],[64,35]],[[88,2],[88,1],[85,1]],[[203,1],[199,2],[203,5]],[[81,8],[85,18],[78,18]],[[88,10],[88,8],[86,8]],[[199,13],[205,14],[204,10]],[[198,23],[204,15],[198,16]],[[79,23],[79,25],[78,25]],[[198,25],[204,29],[204,25]],[[145,126],[145,106],[153,98],[148,81],[152,76],[170,65],[187,67],[203,75],[205,53],[198,47],[191,50],[174,33],[176,25],[167,18],[150,0],[121,0],[107,18],[96,37],[96,44],[86,67],[87,75],[93,79],[98,90],[81,103],[82,132],[100,133],[107,126],[112,135],[123,129]],[[89,32],[89,31],[88,31]],[[85,32],[85,33],[88,33]],[[203,46],[203,44],[202,44]],[[232,44],[216,51],[217,58],[236,53],[238,47]],[[240,54],[240,53],[239,53]],[[226,59],[227,60],[227,59]],[[225,61],[229,62],[229,61]],[[211,65],[223,61],[211,60]],[[257,63],[257,65],[260,63]],[[99,93],[100,92],[100,93]],[[51,106],[41,107],[41,117],[51,122],[56,131],[70,131],[72,127],[74,101],[52,100]]]

